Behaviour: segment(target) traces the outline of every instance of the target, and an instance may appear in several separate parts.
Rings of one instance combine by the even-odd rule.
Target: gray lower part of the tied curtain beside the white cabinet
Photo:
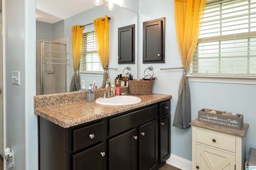
[[[180,79],[180,86],[178,91],[178,102],[175,110],[174,120],[172,126],[178,128],[188,128],[191,122],[191,104],[190,104],[190,90],[188,85],[188,78],[186,72],[183,73]]]

